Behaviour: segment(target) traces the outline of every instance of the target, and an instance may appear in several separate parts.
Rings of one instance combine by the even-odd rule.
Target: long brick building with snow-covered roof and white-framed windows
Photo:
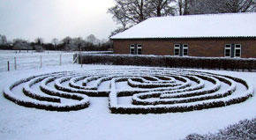
[[[256,58],[256,12],[149,18],[111,40],[115,54]]]

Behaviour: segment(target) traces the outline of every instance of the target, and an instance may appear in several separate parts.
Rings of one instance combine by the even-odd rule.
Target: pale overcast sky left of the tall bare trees
[[[91,33],[107,39],[117,27],[107,13],[112,5],[113,0],[0,0],[0,34],[48,42]]]

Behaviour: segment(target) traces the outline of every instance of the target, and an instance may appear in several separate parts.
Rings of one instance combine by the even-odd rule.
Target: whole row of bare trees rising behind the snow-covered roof
[[[120,26],[110,36],[152,17],[255,11],[256,0],[115,0],[108,12]]]

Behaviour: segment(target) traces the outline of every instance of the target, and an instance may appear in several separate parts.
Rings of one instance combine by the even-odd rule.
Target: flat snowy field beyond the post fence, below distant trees
[[[10,70],[15,70],[14,57],[16,57],[17,70],[38,69],[40,67],[54,66],[60,64],[62,55],[62,65],[72,64],[75,52],[63,51],[44,51],[35,52],[34,50],[0,50],[0,72],[7,71],[7,62],[10,63]]]

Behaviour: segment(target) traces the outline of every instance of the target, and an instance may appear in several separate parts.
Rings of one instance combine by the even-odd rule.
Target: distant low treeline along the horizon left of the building
[[[34,41],[23,39],[8,41],[5,35],[0,34],[0,49],[36,50],[38,52],[43,50],[107,51],[111,46],[111,41],[99,40],[94,34],[87,36],[85,39],[67,36],[61,41],[55,38],[51,42],[44,42],[42,38],[37,38]]]

